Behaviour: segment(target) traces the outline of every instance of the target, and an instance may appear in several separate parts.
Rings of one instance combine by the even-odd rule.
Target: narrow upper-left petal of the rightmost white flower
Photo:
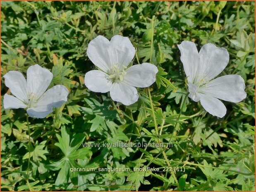
[[[184,71],[189,83],[193,83],[197,76],[197,68],[199,66],[199,53],[196,44],[190,41],[182,41],[178,45],[181,53],[180,60],[182,61]]]

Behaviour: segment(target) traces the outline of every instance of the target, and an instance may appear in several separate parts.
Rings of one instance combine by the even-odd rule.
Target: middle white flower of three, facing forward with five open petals
[[[127,37],[113,36],[109,41],[97,36],[88,45],[87,55],[100,70],[85,74],[84,83],[94,92],[108,92],[112,100],[124,105],[135,103],[139,95],[135,87],[145,88],[156,81],[158,69],[150,63],[127,68],[135,48]]]

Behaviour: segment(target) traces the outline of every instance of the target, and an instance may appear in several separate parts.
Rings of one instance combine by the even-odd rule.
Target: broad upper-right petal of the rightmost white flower
[[[227,50],[223,47],[216,47],[212,43],[203,45],[199,52],[199,57],[200,64],[197,73],[204,82],[210,81],[220,74],[229,61]]]

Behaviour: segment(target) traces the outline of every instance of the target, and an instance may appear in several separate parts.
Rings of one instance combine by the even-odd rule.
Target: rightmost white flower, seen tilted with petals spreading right
[[[226,114],[225,105],[218,99],[237,103],[246,97],[244,79],[241,76],[225,75],[215,78],[229,61],[225,48],[207,43],[198,52],[195,43],[190,41],[183,41],[178,47],[187,75],[189,97],[195,102],[200,101],[210,114],[218,117]]]

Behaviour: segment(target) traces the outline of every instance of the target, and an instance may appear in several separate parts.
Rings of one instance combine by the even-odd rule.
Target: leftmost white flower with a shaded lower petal
[[[19,71],[9,71],[3,77],[5,85],[15,96],[5,94],[5,109],[27,108],[29,116],[45,118],[53,107],[60,107],[67,101],[69,91],[63,85],[55,85],[46,91],[53,73],[38,64],[27,70],[27,81]]]

